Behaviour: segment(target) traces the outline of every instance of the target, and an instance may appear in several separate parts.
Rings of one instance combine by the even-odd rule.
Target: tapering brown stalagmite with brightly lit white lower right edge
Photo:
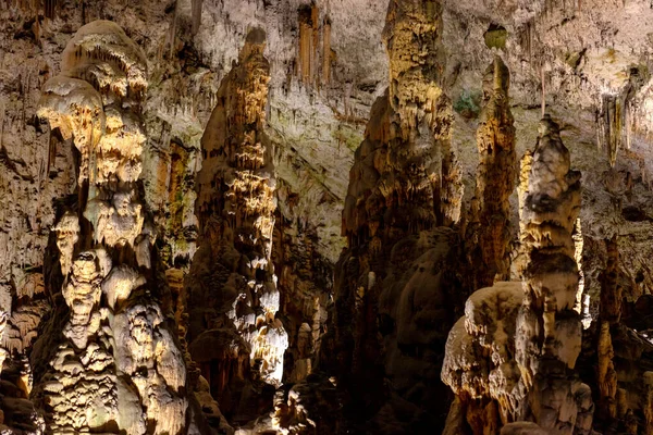
[[[287,348],[275,319],[280,294],[271,261],[276,198],[273,148],[264,133],[264,45],[263,30],[249,33],[201,139],[196,208],[202,237],[190,269],[188,343],[230,414],[239,409],[256,415],[241,393],[257,378],[279,386]]]

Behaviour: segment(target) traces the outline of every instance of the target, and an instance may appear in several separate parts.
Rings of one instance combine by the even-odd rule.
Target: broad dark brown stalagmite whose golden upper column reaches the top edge
[[[453,323],[442,303],[456,237],[436,227],[459,219],[461,185],[451,148],[452,104],[440,84],[442,8],[390,2],[383,32],[390,87],[372,105],[349,172],[342,224],[348,249],[334,282],[338,348],[329,353],[361,415],[382,406],[383,377],[402,397],[421,382],[418,373],[430,374],[423,381],[429,385],[438,383],[442,353],[421,356],[445,340],[432,325]],[[398,366],[411,369],[401,376]],[[424,388],[408,400],[433,412],[442,393]]]

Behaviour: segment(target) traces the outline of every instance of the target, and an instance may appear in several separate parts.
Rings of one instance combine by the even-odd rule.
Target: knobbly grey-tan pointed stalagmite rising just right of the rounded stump
[[[521,241],[528,258],[525,301],[517,318],[516,360],[528,390],[518,420],[571,434],[591,424],[579,403],[589,388],[574,368],[580,353],[581,324],[574,310],[578,266],[571,233],[580,211],[580,173],[570,170],[569,151],[549,115],[540,122],[526,191]]]

